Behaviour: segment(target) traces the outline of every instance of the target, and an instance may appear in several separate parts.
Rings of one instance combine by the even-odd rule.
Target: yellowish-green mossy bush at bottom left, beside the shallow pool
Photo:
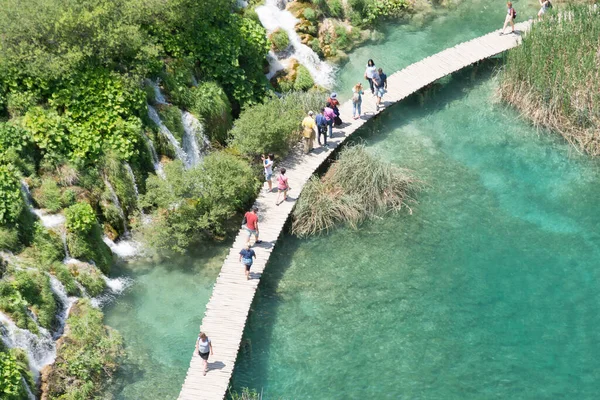
[[[98,398],[101,389],[110,383],[122,354],[121,335],[104,326],[102,311],[87,299],[78,300],[48,374],[49,398]]]

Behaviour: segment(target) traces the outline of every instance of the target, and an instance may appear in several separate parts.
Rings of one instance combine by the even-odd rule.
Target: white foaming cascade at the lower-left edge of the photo
[[[0,312],[0,333],[2,341],[8,348],[18,347],[25,350],[29,359],[29,368],[37,379],[40,371],[56,359],[56,344],[52,335],[39,327],[36,335],[27,329],[19,328],[7,315]]]

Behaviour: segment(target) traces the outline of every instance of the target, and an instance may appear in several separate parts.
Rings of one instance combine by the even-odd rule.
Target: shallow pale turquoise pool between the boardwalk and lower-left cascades
[[[109,396],[177,397],[229,245],[161,263],[129,263],[115,271],[132,278],[133,284],[103,310],[105,323],[123,335],[127,351]]]

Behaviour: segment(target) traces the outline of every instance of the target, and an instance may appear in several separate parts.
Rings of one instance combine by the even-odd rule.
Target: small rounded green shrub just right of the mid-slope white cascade
[[[231,104],[225,91],[215,82],[202,82],[192,88],[193,104],[189,111],[204,122],[205,134],[225,143],[231,128]]]

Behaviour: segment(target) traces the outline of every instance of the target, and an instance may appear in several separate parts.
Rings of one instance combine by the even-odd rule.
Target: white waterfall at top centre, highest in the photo
[[[310,47],[302,44],[295,29],[298,20],[294,18],[291,12],[280,10],[277,6],[277,0],[266,0],[265,5],[256,7],[255,11],[261,24],[268,32],[281,28],[288,34],[290,45],[294,49],[292,57],[308,69],[315,83],[325,88],[333,86],[333,67],[321,61],[317,53]]]

